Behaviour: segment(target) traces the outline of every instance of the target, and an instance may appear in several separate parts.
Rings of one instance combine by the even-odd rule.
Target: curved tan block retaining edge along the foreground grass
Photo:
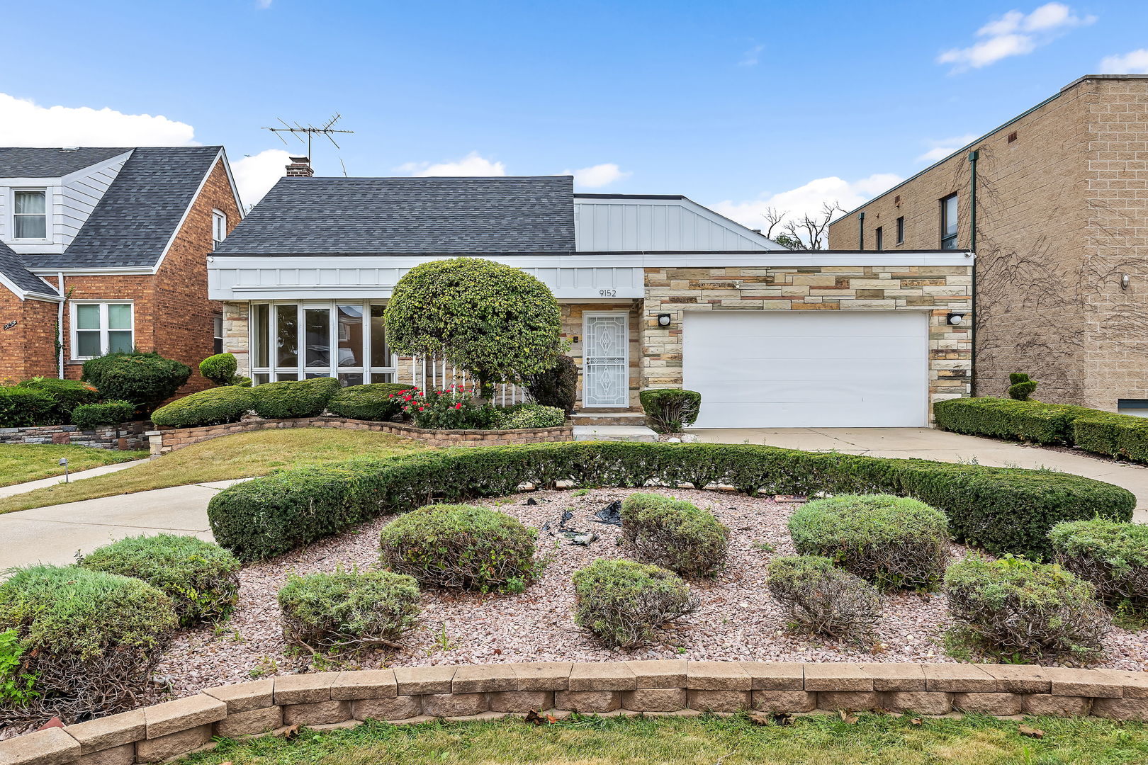
[[[678,713],[885,709],[1148,720],[1148,673],[1023,664],[538,662],[288,674],[0,742],[5,765],[150,763],[212,736],[365,719],[484,720],[535,711]]]

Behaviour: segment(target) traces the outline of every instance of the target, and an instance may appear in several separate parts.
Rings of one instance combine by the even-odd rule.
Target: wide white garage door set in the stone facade
[[[697,428],[929,424],[929,323],[917,311],[689,311]]]

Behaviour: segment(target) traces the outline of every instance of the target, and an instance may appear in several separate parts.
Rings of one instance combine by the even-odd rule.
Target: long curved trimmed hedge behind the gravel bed
[[[800,452],[732,444],[566,442],[441,448],[382,460],[279,470],[224,489],[208,517],[241,560],[270,557],[358,523],[420,507],[552,487],[722,483],[747,494],[885,492],[948,515],[954,534],[993,553],[1050,552],[1048,530],[1094,515],[1131,521],[1135,497],[1045,470]]]

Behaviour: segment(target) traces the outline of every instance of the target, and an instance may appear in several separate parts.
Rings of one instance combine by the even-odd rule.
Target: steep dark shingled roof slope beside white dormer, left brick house
[[[220,149],[131,149],[132,156],[67,251],[25,255],[24,263],[36,268],[155,265]]]

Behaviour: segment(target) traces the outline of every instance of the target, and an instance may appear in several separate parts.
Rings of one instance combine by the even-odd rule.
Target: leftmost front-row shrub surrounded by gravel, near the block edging
[[[389,571],[292,576],[279,608],[290,643],[326,654],[394,648],[418,619],[419,586]]]

